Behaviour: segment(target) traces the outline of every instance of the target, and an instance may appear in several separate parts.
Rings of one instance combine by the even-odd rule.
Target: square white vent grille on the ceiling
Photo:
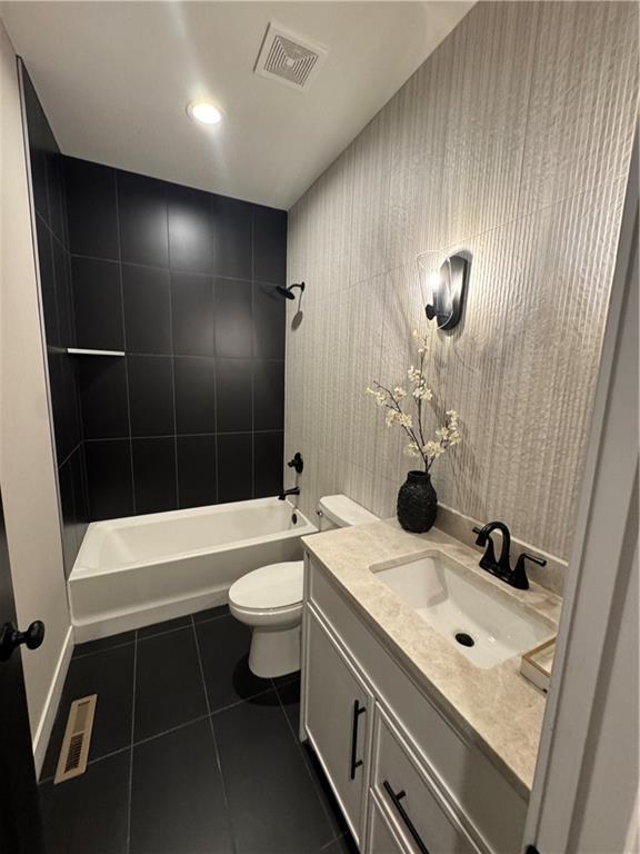
[[[253,69],[257,75],[292,89],[308,89],[328,49],[270,23]]]

